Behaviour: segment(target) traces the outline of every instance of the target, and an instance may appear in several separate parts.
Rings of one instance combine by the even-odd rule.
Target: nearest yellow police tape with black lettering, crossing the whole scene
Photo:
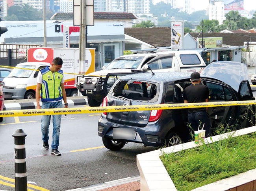
[[[134,106],[59,108],[59,109],[22,109],[22,110],[0,111],[0,117],[82,114],[82,113],[101,113],[101,112],[108,113],[108,112],[121,112],[121,111],[159,110],[159,109],[186,109],[186,108],[195,108],[195,107],[245,106],[245,105],[254,105],[254,104],[256,104],[256,100],[188,103],[188,104],[155,104],[155,105],[138,105],[138,106],[134,105]]]

